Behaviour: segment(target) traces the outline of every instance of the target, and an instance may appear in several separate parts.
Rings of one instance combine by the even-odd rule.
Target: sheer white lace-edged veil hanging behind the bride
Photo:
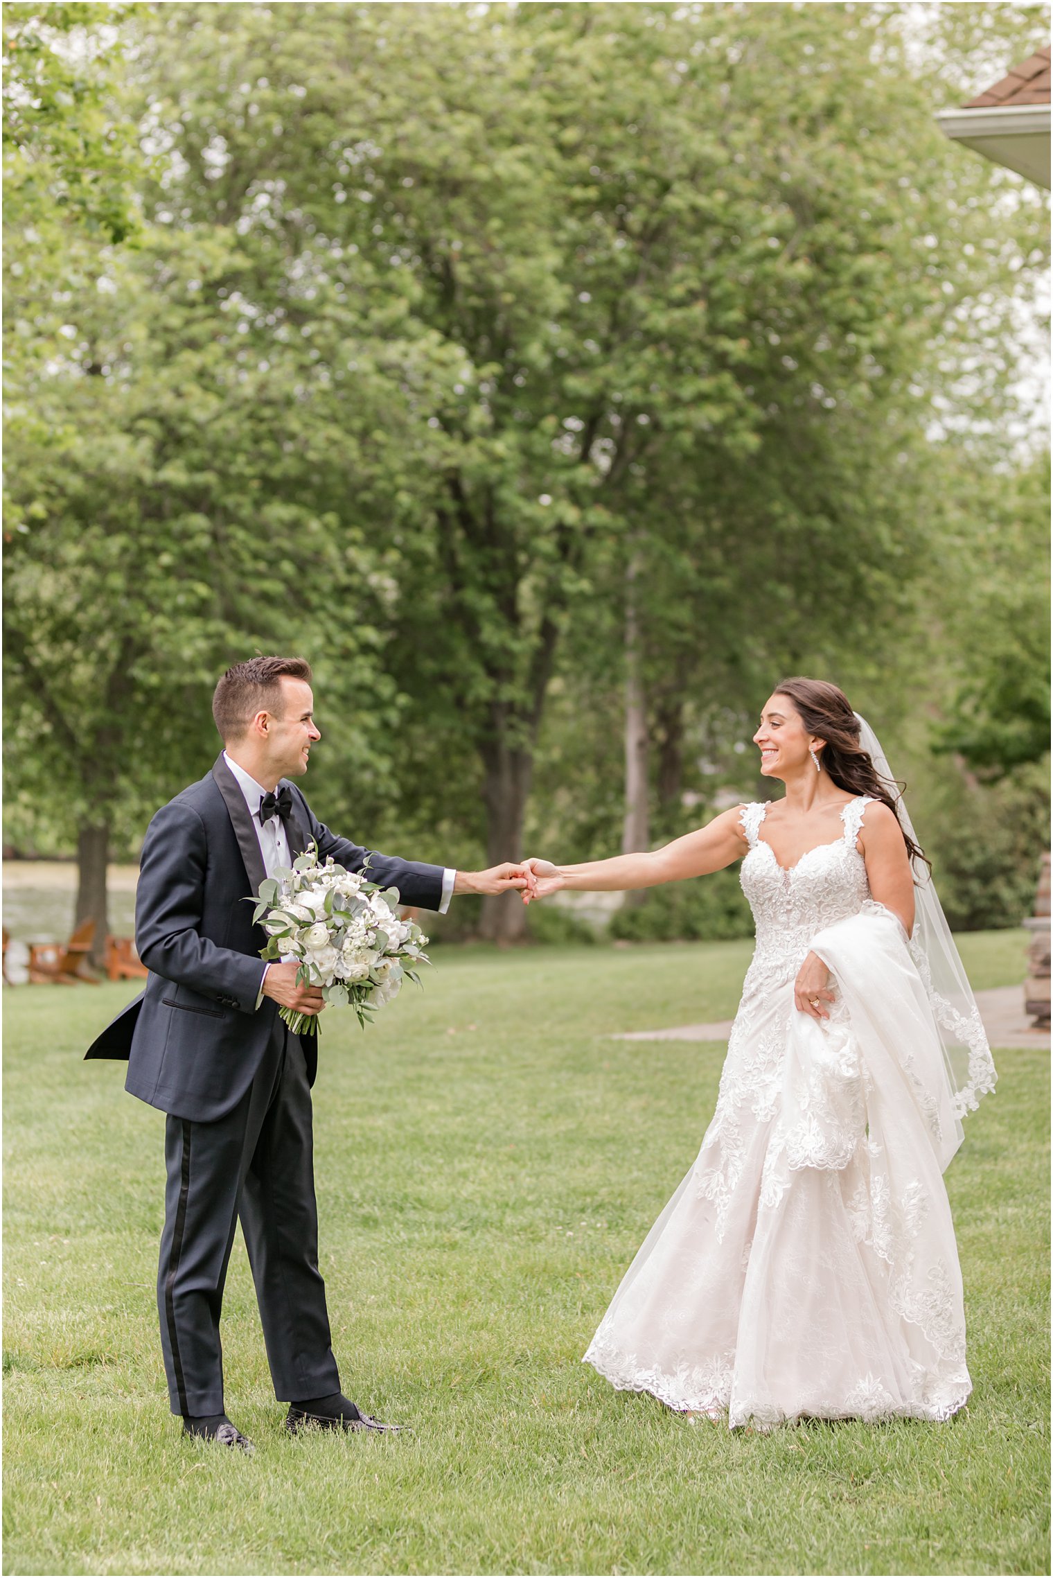
[[[906,811],[906,802],[892,776],[881,742],[865,718],[859,716],[859,743],[870,754],[880,778],[889,787],[900,825],[916,844],[921,839]],[[936,1029],[943,1043],[943,1056],[951,1086],[955,1117],[962,1119],[979,1106],[982,1095],[995,1089],[995,1062],[987,1043],[987,1032],[976,1005],[962,956],[951,936],[947,917],[936,896],[936,887],[928,866],[914,860],[914,929],[910,936],[910,952],[928,994]]]

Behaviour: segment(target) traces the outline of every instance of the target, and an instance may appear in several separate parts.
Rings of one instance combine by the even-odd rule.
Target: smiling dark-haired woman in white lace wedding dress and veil
[[[949,1419],[971,1382],[943,1169],[995,1086],[987,1037],[902,795],[845,694],[785,680],[753,742],[782,800],[653,854],[526,863],[530,901],[741,858],[757,926],[701,1150],[585,1359],[731,1427]]]

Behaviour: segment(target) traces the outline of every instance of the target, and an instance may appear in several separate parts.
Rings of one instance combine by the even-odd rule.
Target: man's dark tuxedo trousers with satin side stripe
[[[277,1015],[244,1097],[211,1124],[166,1119],[158,1269],[173,1414],[224,1412],[219,1313],[241,1218],[274,1395],[340,1390],[318,1272],[311,1087],[300,1037]]]

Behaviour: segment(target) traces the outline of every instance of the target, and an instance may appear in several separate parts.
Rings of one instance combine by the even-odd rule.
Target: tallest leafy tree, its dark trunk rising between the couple
[[[933,346],[1015,249],[990,226],[993,254],[963,252],[985,177],[949,174],[960,150],[878,49],[883,16],[758,11],[172,6],[153,33],[178,202],[235,224],[254,322],[277,290],[348,432],[369,428],[394,672],[418,734],[473,753],[448,775],[481,791],[489,858],[520,852],[596,555],[664,541],[659,495],[701,522],[703,559],[738,563],[708,620],[761,565],[768,604],[812,592],[812,628],[820,573],[826,608],[862,615],[910,548],[906,412],[921,429]],[[713,499],[757,469],[777,513],[755,508],[736,554],[742,514]],[[416,759],[430,778],[438,753]]]

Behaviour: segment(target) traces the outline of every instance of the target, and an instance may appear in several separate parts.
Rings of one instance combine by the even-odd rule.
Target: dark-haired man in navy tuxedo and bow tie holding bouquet
[[[315,821],[290,778],[320,739],[304,658],[227,669],[213,716],[222,754],[162,806],[142,849],[136,945],[145,991],[88,1057],[128,1059],[126,1090],[166,1117],[167,1191],[158,1272],[161,1348],[183,1431],[252,1450],[224,1411],[219,1310],[241,1218],[274,1392],[287,1428],[388,1430],[340,1392],[318,1272],[311,1086],[314,1035],[277,1008],[318,1013],[298,966],[263,964],[244,899],[314,839],[318,857],[397,887],[405,904],[446,911],[454,893],[504,893],[522,866],[448,871],[370,854]]]

